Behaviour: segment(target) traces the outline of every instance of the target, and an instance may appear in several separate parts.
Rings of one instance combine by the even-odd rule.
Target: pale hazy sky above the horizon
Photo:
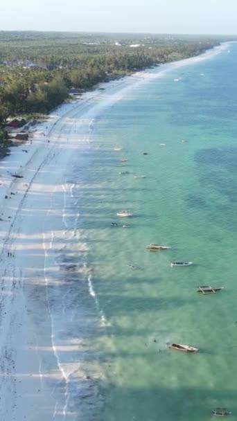
[[[237,0],[0,0],[0,30],[237,34]]]

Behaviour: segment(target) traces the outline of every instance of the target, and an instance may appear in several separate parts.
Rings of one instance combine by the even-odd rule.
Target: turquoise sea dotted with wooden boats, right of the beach
[[[102,316],[99,421],[237,413],[237,44],[227,50],[134,84],[91,125],[74,194]],[[117,217],[122,209],[134,216]],[[152,242],[172,249],[150,253]],[[202,296],[198,285],[225,289]],[[169,350],[173,342],[200,352]]]

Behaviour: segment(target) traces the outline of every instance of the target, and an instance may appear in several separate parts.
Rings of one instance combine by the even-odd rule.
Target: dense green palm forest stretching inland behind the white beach
[[[222,40],[1,31],[0,127],[9,116],[49,112],[71,87],[91,89],[148,66],[198,55]]]

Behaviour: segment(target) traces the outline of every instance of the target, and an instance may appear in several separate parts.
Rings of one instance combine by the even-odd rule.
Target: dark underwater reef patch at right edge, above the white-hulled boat
[[[189,210],[204,211],[207,219],[225,229],[237,231],[236,170],[237,147],[202,149],[194,157],[201,191],[184,197]]]

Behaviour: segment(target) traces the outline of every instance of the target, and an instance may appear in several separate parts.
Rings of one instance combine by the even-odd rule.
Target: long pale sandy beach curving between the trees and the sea
[[[222,51],[217,48],[216,54]],[[211,52],[164,64],[157,73],[157,69],[152,69],[109,84],[103,82],[78,102],[66,103],[54,110],[48,122],[40,123],[32,144],[27,141],[19,145],[1,160],[0,405],[1,413],[5,414],[3,421],[37,421],[43,417],[45,421],[61,421],[66,420],[67,415],[73,421],[78,417],[78,412],[73,413],[71,406],[69,408],[69,379],[78,379],[82,361],[73,361],[70,366],[67,352],[78,352],[82,344],[74,337],[69,343],[62,341],[60,346],[55,345],[58,332],[51,312],[54,301],[62,298],[60,286],[64,275],[55,264],[55,256],[67,243],[76,248],[76,244],[71,245],[73,229],[67,226],[65,205],[65,195],[72,195],[73,199],[73,183],[65,180],[73,151],[89,147],[91,121],[121,100],[123,93],[134,88],[134,84],[163,77],[169,69],[207,60],[215,53]],[[105,90],[100,91],[101,86],[105,86]],[[16,174],[19,178],[12,177]],[[55,287],[58,296],[53,297]],[[80,322],[85,317],[85,309],[83,311]],[[92,310],[87,311],[93,319]],[[85,330],[87,328],[88,325]],[[65,361],[62,361],[62,351]],[[88,393],[92,383],[82,373],[81,376],[83,395],[84,390]]]

